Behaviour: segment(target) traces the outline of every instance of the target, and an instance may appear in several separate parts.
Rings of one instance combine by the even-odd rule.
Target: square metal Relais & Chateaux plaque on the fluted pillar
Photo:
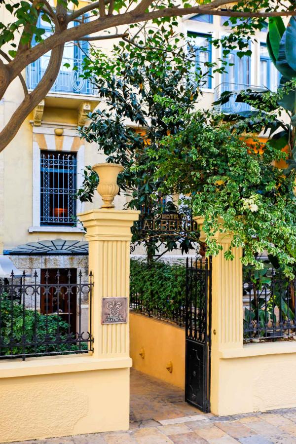
[[[127,322],[127,297],[102,298],[102,324]]]

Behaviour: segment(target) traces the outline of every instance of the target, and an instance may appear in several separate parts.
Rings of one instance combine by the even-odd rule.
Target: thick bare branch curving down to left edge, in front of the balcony
[[[27,94],[25,99],[12,114],[8,123],[0,132],[0,152],[11,142],[19,128],[21,127],[24,116],[27,116],[37,107],[38,103],[46,96],[49,89],[59,73],[64,52],[64,45],[58,46],[51,51],[50,60],[47,69],[32,93]]]

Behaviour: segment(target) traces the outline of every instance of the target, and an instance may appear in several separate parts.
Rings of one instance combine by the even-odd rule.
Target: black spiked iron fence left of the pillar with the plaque
[[[44,270],[41,282],[36,271],[0,280],[0,359],[92,351],[92,279]]]

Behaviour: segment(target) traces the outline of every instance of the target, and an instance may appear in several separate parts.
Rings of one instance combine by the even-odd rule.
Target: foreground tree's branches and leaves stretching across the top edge
[[[87,4],[57,0],[56,7],[48,0],[0,0],[0,3],[7,11],[7,20],[0,23],[0,100],[16,77],[24,89],[23,100],[0,132],[0,151],[54,84],[66,42],[126,38],[126,32],[117,32],[118,26],[147,21],[159,25],[176,16],[204,13],[229,17],[226,25],[233,28],[233,33],[223,43],[229,47],[238,42],[242,50],[248,50],[246,40],[262,28],[266,17],[296,15],[294,0],[283,4],[277,0],[204,0],[198,4],[183,0],[181,5],[173,0],[94,0]],[[45,33],[39,16],[48,23],[51,32]],[[43,77],[36,88],[28,92],[23,70],[49,51]]]

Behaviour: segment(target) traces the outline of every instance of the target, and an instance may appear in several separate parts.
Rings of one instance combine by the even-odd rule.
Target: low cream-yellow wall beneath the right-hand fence
[[[296,407],[294,342],[250,344],[212,356],[212,413]]]

